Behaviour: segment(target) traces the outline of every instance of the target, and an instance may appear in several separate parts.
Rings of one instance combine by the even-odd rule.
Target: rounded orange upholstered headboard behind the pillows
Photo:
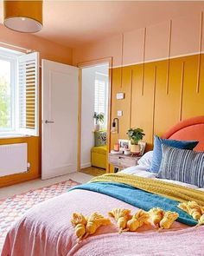
[[[204,115],[178,122],[162,138],[178,141],[199,141],[194,150],[204,151]]]

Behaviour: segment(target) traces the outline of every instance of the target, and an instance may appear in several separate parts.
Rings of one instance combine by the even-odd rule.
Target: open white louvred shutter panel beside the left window
[[[17,126],[22,135],[39,135],[39,53],[18,57]]]

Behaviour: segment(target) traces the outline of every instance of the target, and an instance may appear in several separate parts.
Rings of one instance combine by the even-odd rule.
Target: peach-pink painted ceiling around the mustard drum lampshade
[[[204,10],[193,1],[44,1],[44,27],[36,36],[74,47]],[[2,4],[0,22],[3,22]]]

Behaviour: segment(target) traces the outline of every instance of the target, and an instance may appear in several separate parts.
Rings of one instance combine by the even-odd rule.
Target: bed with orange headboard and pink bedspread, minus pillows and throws
[[[199,144],[195,150],[204,151],[204,116],[194,117],[176,124],[163,135],[163,138],[197,140]],[[127,168],[123,174],[132,179],[135,177],[157,182],[156,175],[148,172],[145,164]],[[172,191],[177,185],[181,189],[189,187],[192,192],[201,193],[201,200],[204,200],[202,187],[180,181],[164,180],[164,183],[169,184],[167,185],[169,187],[172,186]],[[114,184],[109,185],[113,186]],[[2,255],[203,255],[204,226],[188,226],[185,221],[182,223],[175,221],[169,230],[162,232],[156,232],[153,226],[143,226],[137,232],[122,234],[118,233],[118,228],[112,221],[111,226],[101,226],[94,235],[78,243],[70,223],[73,212],[88,215],[97,211],[107,216],[112,208],[117,207],[128,208],[133,212],[138,210],[138,207],[123,200],[123,194],[120,194],[119,198],[122,200],[119,200],[117,197],[112,197],[112,194],[103,194],[99,187],[96,188],[98,191],[96,192],[87,190],[87,185],[84,186],[30,209],[7,234]],[[104,184],[104,187],[107,186]],[[123,190],[120,189],[120,191]],[[132,191],[135,192],[135,190]]]

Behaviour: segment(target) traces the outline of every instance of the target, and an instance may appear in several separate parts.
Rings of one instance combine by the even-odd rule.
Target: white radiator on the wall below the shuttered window
[[[0,177],[27,171],[27,143],[0,146]]]

